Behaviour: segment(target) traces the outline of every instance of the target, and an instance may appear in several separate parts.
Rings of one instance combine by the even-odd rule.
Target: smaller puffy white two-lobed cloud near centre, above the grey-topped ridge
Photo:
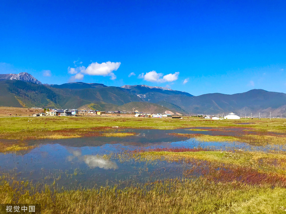
[[[149,82],[173,82],[178,79],[180,72],[175,72],[174,74],[167,74],[163,76],[162,73],[157,73],[155,70],[139,74],[138,78],[144,78],[144,80]],[[163,78],[161,78],[163,76]]]

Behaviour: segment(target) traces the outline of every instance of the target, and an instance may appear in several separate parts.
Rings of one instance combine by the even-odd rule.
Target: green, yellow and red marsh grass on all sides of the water
[[[241,124],[243,122],[251,124]],[[0,152],[31,150],[35,146],[25,143],[29,139],[135,136],[135,133],[120,132],[120,128],[187,128],[198,133],[171,135],[200,141],[245,142],[262,147],[267,144],[285,146],[285,125],[283,119],[3,117],[0,118],[0,139],[18,141],[4,143],[3,140]],[[119,129],[112,126],[119,126]],[[231,132],[231,136],[203,134],[209,130]],[[56,180],[60,176],[52,178],[53,184],[45,184],[19,178],[11,171],[0,175],[0,203],[40,203],[42,213],[286,213],[286,153],[282,151],[152,148],[104,156],[106,159],[111,157],[121,162],[156,165],[166,161],[174,167],[189,167],[176,179],[147,183],[136,183],[131,179],[102,187],[79,186],[76,189],[57,186]],[[142,171],[148,171],[148,168]],[[78,179],[76,170],[72,176]],[[126,187],[121,187],[121,183]]]

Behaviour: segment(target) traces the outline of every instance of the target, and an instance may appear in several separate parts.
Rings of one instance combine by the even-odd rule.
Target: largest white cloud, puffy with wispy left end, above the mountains
[[[77,61],[74,61],[76,65]],[[82,62],[80,62],[82,64]],[[116,79],[116,75],[113,71],[117,70],[120,66],[120,62],[92,62],[87,68],[84,66],[71,68],[68,67],[67,70],[69,74],[76,74],[73,76],[70,81],[74,81],[75,79],[82,80],[84,78],[84,74],[92,75],[92,76],[110,76],[111,80]]]

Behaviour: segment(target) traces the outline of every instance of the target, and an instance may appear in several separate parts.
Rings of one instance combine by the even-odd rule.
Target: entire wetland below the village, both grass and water
[[[11,119],[0,118],[1,203],[41,203],[42,213],[285,213],[283,120]]]

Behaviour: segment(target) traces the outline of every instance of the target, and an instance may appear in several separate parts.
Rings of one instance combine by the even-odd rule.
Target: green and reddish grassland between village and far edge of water
[[[251,123],[250,123],[251,122]],[[245,123],[245,124],[244,124]],[[184,117],[172,118],[135,118],[135,117],[1,117],[0,139],[57,139],[73,138],[91,135],[100,129],[112,128],[142,128],[142,129],[178,129],[208,127],[223,131],[224,128],[239,128],[233,132],[236,136],[243,132],[239,139],[243,142],[260,140],[264,143],[283,143],[282,136],[273,136],[273,132],[280,135],[286,133],[285,119],[241,119],[241,120],[207,120]],[[201,129],[193,129],[202,131]],[[224,136],[196,136],[203,141],[225,139]],[[240,134],[241,135],[241,134]],[[274,134],[275,135],[275,134]],[[192,136],[183,136],[192,137]],[[278,139],[277,139],[278,138]],[[237,138],[232,138],[237,139]],[[233,140],[234,141],[234,140]],[[277,143],[278,142],[278,143]]]

